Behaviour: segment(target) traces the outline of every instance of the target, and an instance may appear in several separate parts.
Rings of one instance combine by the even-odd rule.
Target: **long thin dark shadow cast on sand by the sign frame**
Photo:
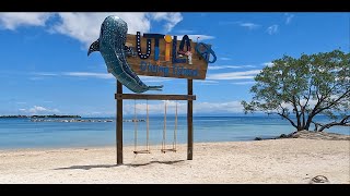
[[[152,163],[161,163],[161,164],[175,164],[177,162],[183,162],[185,160],[175,160],[175,161],[151,161],[145,163],[128,163],[128,164],[91,164],[91,166],[71,166],[68,168],[56,168],[54,170],[90,170],[94,168],[115,168],[115,167],[121,167],[121,166],[128,166],[128,167],[143,167],[149,166]]]

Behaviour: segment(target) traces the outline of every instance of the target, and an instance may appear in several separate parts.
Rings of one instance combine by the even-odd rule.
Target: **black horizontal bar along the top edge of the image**
[[[28,0],[4,1],[1,12],[349,12],[345,0]]]

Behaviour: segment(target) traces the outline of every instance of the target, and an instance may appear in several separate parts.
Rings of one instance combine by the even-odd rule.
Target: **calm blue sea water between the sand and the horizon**
[[[145,119],[144,117],[139,118]],[[95,120],[98,119],[106,120],[106,118],[95,118]],[[167,117],[166,144],[172,144],[174,139],[174,123],[175,118]],[[145,122],[138,123],[139,145],[145,144]],[[163,126],[163,117],[150,118],[151,145],[162,144]],[[133,145],[133,128],[132,122],[124,122],[124,145]],[[115,145],[115,122],[65,123],[31,122],[30,119],[0,119],[0,149]],[[278,117],[194,117],[195,143],[252,140],[255,137],[276,137],[293,131],[289,122]],[[350,135],[349,127],[337,126],[327,132]],[[187,143],[186,117],[178,117],[177,143]]]

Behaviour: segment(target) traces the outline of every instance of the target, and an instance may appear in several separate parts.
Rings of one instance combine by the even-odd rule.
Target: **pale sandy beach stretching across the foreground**
[[[350,184],[349,140],[195,143],[194,160],[186,160],[186,145],[177,152],[132,150],[124,148],[122,166],[116,166],[114,146],[0,150],[0,183],[307,184],[324,175],[330,184]]]

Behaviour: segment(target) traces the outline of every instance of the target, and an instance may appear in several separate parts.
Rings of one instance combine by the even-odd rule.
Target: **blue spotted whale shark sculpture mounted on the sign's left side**
[[[125,46],[128,25],[125,21],[115,15],[107,16],[101,25],[100,38],[90,46],[88,56],[100,51],[108,72],[133,93],[162,90],[163,85],[145,85],[129,66],[126,54],[132,54],[132,51]]]

